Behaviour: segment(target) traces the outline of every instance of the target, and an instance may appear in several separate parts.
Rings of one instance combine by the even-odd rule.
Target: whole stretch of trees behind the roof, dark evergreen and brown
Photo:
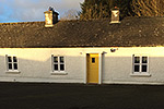
[[[81,20],[110,16],[110,10],[120,9],[120,16],[163,16],[163,0],[85,0],[81,4]]]

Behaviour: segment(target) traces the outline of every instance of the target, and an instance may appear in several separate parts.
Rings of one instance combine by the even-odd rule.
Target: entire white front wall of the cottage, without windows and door
[[[1,48],[0,81],[86,83],[86,53],[101,55],[99,75],[104,84],[164,84],[164,47]],[[7,71],[5,55],[17,58],[19,72]],[[51,55],[65,57],[65,73],[52,72]],[[133,55],[149,57],[150,75],[133,75]]]

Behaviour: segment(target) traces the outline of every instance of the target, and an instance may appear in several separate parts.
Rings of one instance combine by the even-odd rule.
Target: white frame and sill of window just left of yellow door
[[[54,57],[57,57],[58,58],[58,62],[57,63],[55,63],[54,62]],[[60,57],[63,57],[63,63],[60,63]],[[58,70],[55,70],[55,64],[58,64]],[[60,70],[60,64],[63,64],[63,66],[65,66],[65,70],[63,71],[61,71]],[[51,75],[58,75],[58,74],[67,74],[66,73],[66,57],[65,56],[56,56],[56,55],[51,55]]]

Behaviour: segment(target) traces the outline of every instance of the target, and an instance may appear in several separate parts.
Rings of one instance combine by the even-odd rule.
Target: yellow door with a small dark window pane
[[[90,53],[87,60],[87,83],[98,83],[98,55]]]

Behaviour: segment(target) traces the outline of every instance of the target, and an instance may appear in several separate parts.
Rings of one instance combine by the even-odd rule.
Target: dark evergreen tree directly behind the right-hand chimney
[[[128,2],[128,3],[127,3]],[[118,7],[121,11],[121,16],[130,15],[131,0],[85,0],[81,4],[82,20],[104,19],[110,16],[110,9]]]

